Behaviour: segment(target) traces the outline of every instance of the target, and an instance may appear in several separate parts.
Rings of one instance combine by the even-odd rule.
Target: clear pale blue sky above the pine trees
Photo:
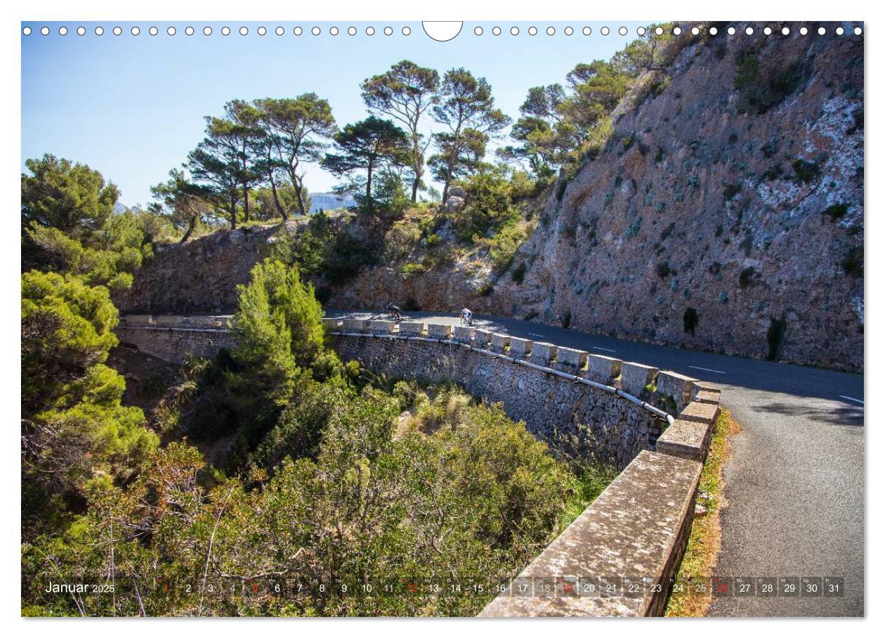
[[[519,35],[511,35],[516,24]],[[601,35],[606,23],[502,23],[501,35],[492,35],[496,23],[466,22],[450,42],[435,42],[419,22],[25,22],[31,35],[21,36],[21,161],[50,152],[88,164],[114,181],[126,205],[150,201],[151,185],[164,181],[181,165],[188,151],[202,139],[204,115],[220,114],[228,100],[266,96],[296,96],[314,91],[332,105],[339,126],[366,117],[359,83],[408,58],[440,74],[465,66],[492,85],[496,104],[512,118],[527,89],[563,82],[579,62],[610,58],[636,37],[640,23],[617,23],[628,28],[618,35],[615,25]],[[95,35],[95,27],[104,35]],[[203,27],[212,27],[204,35]],[[221,27],[231,27],[221,35]],[[239,35],[241,26],[248,35]],[[347,27],[358,28],[347,35]],[[393,35],[383,35],[385,26]],[[538,28],[528,35],[528,27]],[[50,35],[41,35],[41,27]],[[67,35],[58,35],[65,26]],[[77,35],[77,27],[86,35]],[[122,35],[112,28],[122,28]],[[137,26],[141,33],[130,34]],[[156,26],[159,34],[149,35]],[[177,34],[166,35],[173,26]],[[185,35],[185,27],[196,29]],[[267,28],[258,35],[258,27]],[[285,35],[275,35],[277,26]],[[304,29],[293,35],[294,27]],[[321,35],[311,35],[317,26]],[[338,35],[328,35],[329,27]],[[366,27],[375,29],[366,35]],[[404,26],[411,35],[402,35]],[[474,35],[474,27],[483,35]],[[547,35],[547,27],[556,29]],[[564,28],[572,26],[573,35]],[[591,35],[582,35],[590,27]],[[429,122],[428,122],[429,124]],[[335,179],[312,166],[306,184],[326,191]]]

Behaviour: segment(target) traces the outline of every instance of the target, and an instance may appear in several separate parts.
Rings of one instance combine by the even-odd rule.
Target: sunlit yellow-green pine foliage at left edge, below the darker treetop
[[[117,322],[106,288],[21,276],[23,522],[58,519],[58,497],[79,498],[92,480],[127,480],[157,446],[142,411],[120,405],[123,378],[104,365]]]

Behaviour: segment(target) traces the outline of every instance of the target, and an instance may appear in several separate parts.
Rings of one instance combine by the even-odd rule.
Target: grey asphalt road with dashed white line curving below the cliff
[[[329,312],[381,318],[380,313]],[[457,324],[456,316],[406,312]],[[722,404],[743,428],[727,462],[724,577],[843,579],[838,597],[723,597],[712,616],[864,615],[864,378],[679,350],[497,317],[476,327],[654,365],[720,384]]]

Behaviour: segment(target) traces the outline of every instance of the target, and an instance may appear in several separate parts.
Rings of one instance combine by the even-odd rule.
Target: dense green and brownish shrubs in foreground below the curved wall
[[[43,615],[477,613],[493,594],[366,596],[360,585],[370,577],[508,580],[601,491],[603,477],[573,479],[499,407],[454,388],[433,401],[413,385],[395,388],[396,396],[366,388],[305,397],[319,421],[329,415],[327,425],[312,457],[284,457],[273,477],[213,476],[194,448],[171,443],[126,488],[96,483],[65,534],[22,547],[23,601]],[[408,404],[434,427],[397,426]],[[274,442],[311,431],[289,417]],[[47,594],[58,573],[72,582],[107,573],[118,589]],[[347,592],[316,587],[336,579]],[[257,592],[242,596],[244,582]],[[163,583],[191,588],[165,592]],[[274,583],[312,587],[273,596]]]

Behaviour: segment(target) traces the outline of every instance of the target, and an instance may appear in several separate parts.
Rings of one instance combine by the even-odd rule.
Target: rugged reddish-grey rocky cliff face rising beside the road
[[[862,370],[863,37],[833,31],[683,36],[667,73],[615,111],[605,150],[552,188],[512,266],[524,269],[521,283],[511,270],[483,285],[460,264],[408,278],[375,267],[328,304],[468,305]],[[222,233],[161,252],[119,304],[227,310],[272,234]]]

